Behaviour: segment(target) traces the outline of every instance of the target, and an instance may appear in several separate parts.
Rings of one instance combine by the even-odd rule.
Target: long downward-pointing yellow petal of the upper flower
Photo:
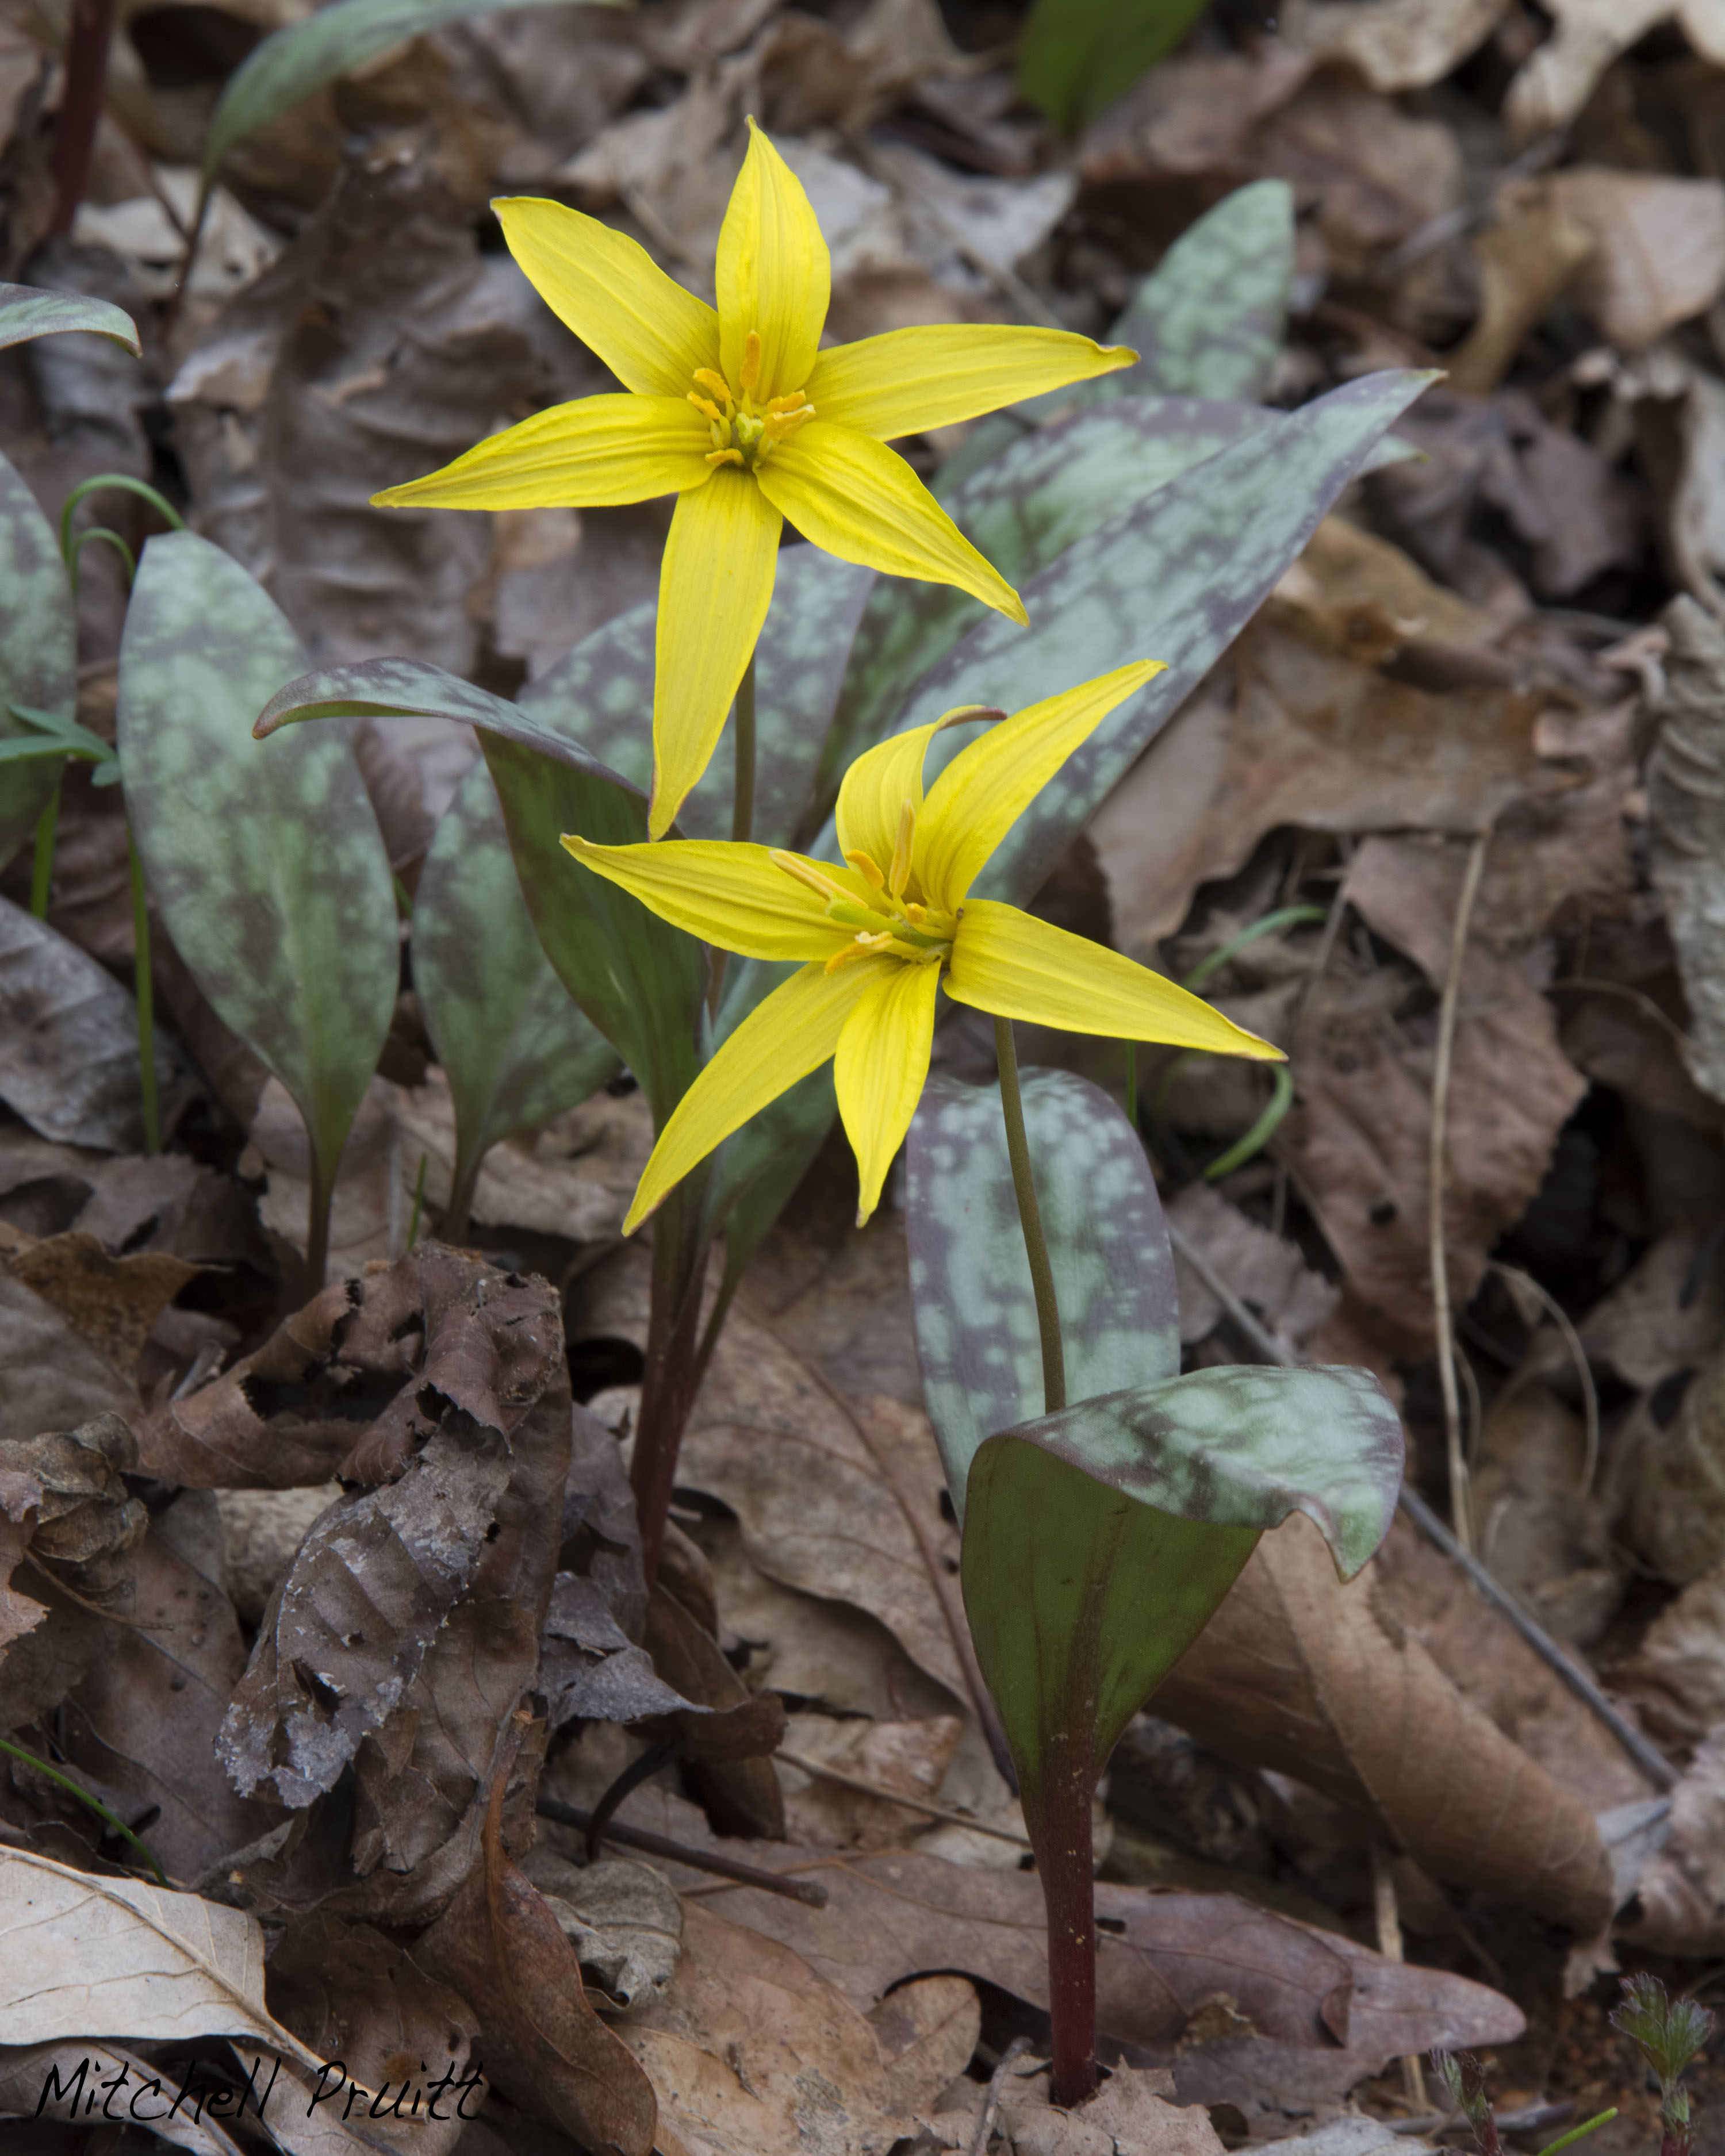
[[[660,567],[647,808],[653,839],[671,830],[724,733],[724,714],[768,619],[778,530],[778,511],[731,464],[677,502]]]

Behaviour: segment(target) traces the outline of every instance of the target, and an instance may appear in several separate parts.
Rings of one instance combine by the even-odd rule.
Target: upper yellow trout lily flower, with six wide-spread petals
[[[778,533],[841,561],[957,584],[1024,621],[1018,593],[886,442],[1136,360],[1065,330],[888,330],[819,349],[830,263],[809,196],[750,121],[718,235],[718,308],[597,218],[492,207],[515,261],[627,390],[522,420],[388,507],[537,509],[675,494],[660,569],[653,802],[662,839],[705,772],[772,599]]]

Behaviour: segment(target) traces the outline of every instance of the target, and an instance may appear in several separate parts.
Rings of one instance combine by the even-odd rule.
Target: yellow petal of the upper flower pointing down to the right
[[[957,584],[1011,621],[1029,621],[1011,584],[970,545],[903,457],[873,436],[811,418],[757,470],[774,509],[839,561]]]

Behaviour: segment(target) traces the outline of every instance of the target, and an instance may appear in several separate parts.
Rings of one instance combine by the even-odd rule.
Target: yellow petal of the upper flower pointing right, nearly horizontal
[[[815,360],[806,390],[822,418],[891,442],[1110,375],[1136,358],[1130,345],[1098,345],[1070,330],[927,323],[832,345]]]

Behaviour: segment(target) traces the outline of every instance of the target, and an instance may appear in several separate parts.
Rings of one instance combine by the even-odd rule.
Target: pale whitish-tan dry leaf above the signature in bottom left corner
[[[0,1945],[13,2044],[114,2029],[132,2042],[237,2035],[321,2065],[263,2003],[263,1925],[224,1902],[0,1848]]]

